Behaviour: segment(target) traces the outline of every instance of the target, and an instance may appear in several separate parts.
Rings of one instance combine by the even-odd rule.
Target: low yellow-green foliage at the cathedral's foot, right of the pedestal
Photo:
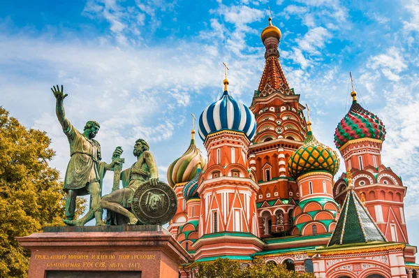
[[[242,267],[239,262],[228,258],[217,258],[212,263],[193,263],[189,270],[196,278],[312,278],[311,273],[297,273],[286,270],[284,265],[265,263],[262,258],[256,258],[248,267]]]

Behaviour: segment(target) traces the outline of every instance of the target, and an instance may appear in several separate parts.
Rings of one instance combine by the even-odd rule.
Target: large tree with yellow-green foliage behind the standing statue
[[[65,198],[58,170],[48,166],[50,142],[0,106],[0,277],[27,276],[30,254],[15,237],[63,225]]]

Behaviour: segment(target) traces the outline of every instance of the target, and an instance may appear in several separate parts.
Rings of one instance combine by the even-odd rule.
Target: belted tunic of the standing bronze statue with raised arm
[[[68,162],[64,191],[79,189],[78,196],[89,194],[89,184],[100,182],[98,173],[101,160],[101,145],[96,140],[86,138],[72,124],[64,130],[70,143],[71,159]]]

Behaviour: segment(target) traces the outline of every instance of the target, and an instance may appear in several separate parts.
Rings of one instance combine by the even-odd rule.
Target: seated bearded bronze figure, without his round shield
[[[133,154],[137,157],[137,161],[131,168],[122,171],[121,174],[124,188],[112,191],[107,196],[104,196],[100,202],[101,207],[108,210],[110,224],[121,224],[114,219],[110,219],[117,216],[112,214],[112,212],[126,217],[128,219],[128,225],[137,224],[138,218],[130,211],[135,191],[146,183],[151,186],[157,186],[159,184],[159,173],[156,162],[152,153],[149,152],[149,145],[145,140],[138,139],[135,141]],[[110,215],[112,216],[109,217]]]

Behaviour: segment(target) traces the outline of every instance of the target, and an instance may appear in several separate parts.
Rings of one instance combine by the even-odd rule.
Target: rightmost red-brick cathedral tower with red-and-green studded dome
[[[390,167],[381,163],[385,128],[381,119],[362,108],[357,93],[351,92],[352,105],[335,131],[335,145],[351,170],[355,193],[390,242],[409,243],[404,219],[406,186]],[[346,173],[334,186],[338,203],[346,196]],[[406,247],[409,249],[409,247]]]

